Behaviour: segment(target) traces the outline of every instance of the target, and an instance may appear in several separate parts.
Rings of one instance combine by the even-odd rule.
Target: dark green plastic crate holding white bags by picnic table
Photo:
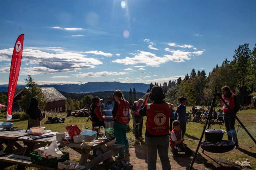
[[[58,167],[58,162],[64,162],[69,160],[69,153],[62,152],[63,155],[60,158],[45,158],[43,156],[38,155],[38,152],[30,153],[31,161],[37,165],[41,165],[44,167]]]

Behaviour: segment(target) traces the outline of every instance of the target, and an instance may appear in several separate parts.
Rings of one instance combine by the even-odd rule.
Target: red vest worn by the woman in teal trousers
[[[128,122],[129,122],[129,103],[128,103],[128,101],[125,100],[125,104],[124,104],[123,100],[117,100],[116,102],[118,104],[118,109],[116,112],[116,116],[117,116],[116,120],[119,123],[128,124]],[[125,105],[126,105],[126,108],[125,108]]]

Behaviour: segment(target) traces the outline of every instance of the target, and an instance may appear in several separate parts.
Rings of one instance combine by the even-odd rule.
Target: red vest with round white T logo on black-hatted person
[[[169,133],[169,118],[172,107],[169,103],[147,104],[146,129],[152,135],[165,135]]]

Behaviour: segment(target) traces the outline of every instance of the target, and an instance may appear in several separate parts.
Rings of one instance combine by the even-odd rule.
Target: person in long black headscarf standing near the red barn
[[[27,129],[30,129],[31,127],[41,126],[41,120],[43,119],[43,115],[39,108],[38,100],[35,97],[30,100],[30,106],[27,110],[27,116]]]

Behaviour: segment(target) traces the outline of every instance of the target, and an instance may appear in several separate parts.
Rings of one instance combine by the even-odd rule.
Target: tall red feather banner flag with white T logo
[[[14,93],[15,93],[15,89],[16,89],[16,85],[17,85],[17,81],[20,73],[23,40],[24,40],[24,34],[21,34],[15,43],[13,53],[12,53],[12,62],[11,62],[8,98],[7,98],[8,101],[7,101],[6,121],[12,118],[12,102],[13,102],[13,97],[14,97]]]

